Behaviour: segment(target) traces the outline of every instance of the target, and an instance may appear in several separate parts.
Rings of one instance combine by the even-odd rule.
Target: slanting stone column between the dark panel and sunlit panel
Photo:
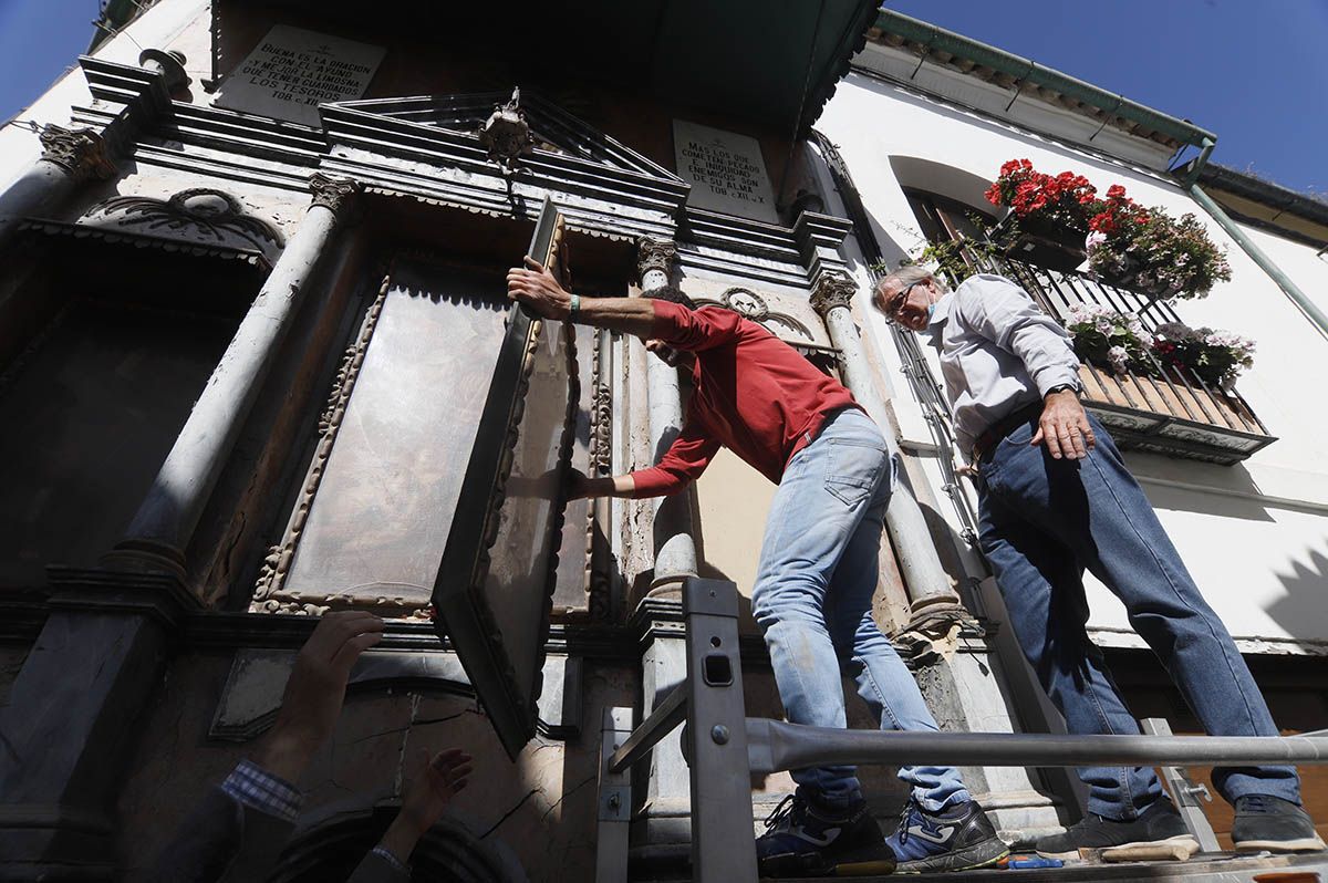
[[[316,173],[299,230],[212,370],[129,531],[106,564],[183,578],[185,550],[263,381],[276,360],[305,288],[360,185]]]

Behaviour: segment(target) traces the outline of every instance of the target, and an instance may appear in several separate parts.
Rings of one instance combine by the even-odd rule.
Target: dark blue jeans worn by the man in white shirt
[[[1097,449],[1052,459],[1020,426],[980,466],[980,543],[1024,655],[1072,733],[1138,733],[1102,652],[1084,629],[1088,568],[1125,604],[1212,736],[1276,736],[1278,728],[1235,643],[1199,595],[1116,442],[1089,416]],[[1162,794],[1150,767],[1080,769],[1089,811],[1131,819]],[[1218,767],[1228,801],[1271,794],[1300,802],[1291,766]]]

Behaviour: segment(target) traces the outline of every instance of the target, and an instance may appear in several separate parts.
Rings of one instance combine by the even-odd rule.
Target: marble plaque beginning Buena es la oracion
[[[222,84],[216,105],[319,125],[319,105],[363,98],[386,49],[276,25]]]

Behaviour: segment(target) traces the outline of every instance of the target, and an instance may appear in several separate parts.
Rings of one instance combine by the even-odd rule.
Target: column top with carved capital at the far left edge
[[[92,129],[46,125],[37,137],[41,157],[0,194],[0,244],[19,222],[48,211],[80,182],[116,174],[105,141]]]

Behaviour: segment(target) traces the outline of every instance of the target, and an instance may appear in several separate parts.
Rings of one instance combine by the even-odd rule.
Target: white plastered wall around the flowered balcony
[[[891,264],[923,244],[896,175],[918,163],[892,162],[898,158],[985,179],[1007,159],[1028,158],[1048,173],[1084,174],[1098,190],[1125,185],[1143,204],[1207,222],[1214,240],[1227,248],[1232,281],[1219,283],[1206,299],[1179,301],[1177,309],[1191,325],[1235,331],[1258,343],[1255,366],[1238,389],[1278,441],[1232,467],[1149,454],[1127,458],[1186,564],[1244,649],[1328,652],[1328,412],[1319,381],[1328,340],[1236,243],[1166,178],[861,73],[839,84],[817,127],[839,147]],[[1250,232],[1324,304],[1328,264],[1312,248]],[[874,311],[859,315],[887,362],[886,373],[898,378],[899,355],[888,328]],[[926,450],[931,436],[922,412],[906,384],[894,386],[903,441]],[[931,471],[934,493],[943,499],[940,473]],[[1092,578],[1089,595],[1090,625],[1100,640],[1141,645],[1120,603]]]

